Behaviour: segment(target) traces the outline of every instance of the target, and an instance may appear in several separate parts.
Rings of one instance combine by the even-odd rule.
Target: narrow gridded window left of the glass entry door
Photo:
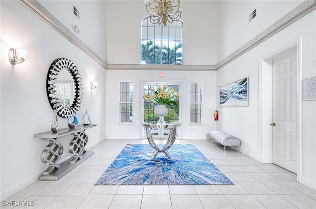
[[[133,82],[119,82],[120,123],[133,122]]]

